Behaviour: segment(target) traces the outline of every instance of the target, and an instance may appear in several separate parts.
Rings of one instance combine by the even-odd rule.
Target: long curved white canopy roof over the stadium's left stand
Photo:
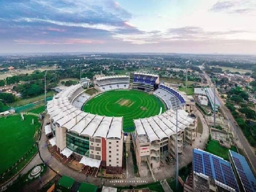
[[[83,112],[71,105],[72,94],[82,89],[80,84],[59,92],[47,103],[47,113],[53,123],[85,137],[121,138],[123,117],[99,116]]]

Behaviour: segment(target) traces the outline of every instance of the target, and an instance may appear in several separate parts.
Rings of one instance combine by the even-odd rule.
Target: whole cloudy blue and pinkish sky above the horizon
[[[256,0],[1,0],[0,53],[256,54]]]

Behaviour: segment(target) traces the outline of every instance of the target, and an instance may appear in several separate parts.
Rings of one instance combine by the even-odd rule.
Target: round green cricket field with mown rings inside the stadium
[[[122,117],[123,130],[134,130],[133,119],[151,117],[165,111],[165,105],[154,95],[139,90],[112,90],[86,102],[83,110],[92,114]]]

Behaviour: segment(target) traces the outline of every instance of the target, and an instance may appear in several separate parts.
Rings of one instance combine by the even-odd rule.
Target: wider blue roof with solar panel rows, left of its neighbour
[[[223,158],[194,148],[193,171],[211,176],[214,180],[235,189],[235,191],[239,191],[230,162]]]

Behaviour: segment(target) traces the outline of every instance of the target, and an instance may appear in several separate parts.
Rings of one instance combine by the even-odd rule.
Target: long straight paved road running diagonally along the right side
[[[211,79],[209,78],[209,76],[203,71],[204,76],[207,79],[208,85],[210,87],[213,87],[213,83],[211,81]],[[221,104],[221,108],[224,112],[224,114],[226,115],[229,123],[230,123],[230,128],[233,131],[235,138],[238,139],[238,142],[240,142],[240,144],[242,145],[251,165],[252,168],[254,169],[254,172],[256,173],[256,155],[255,155],[255,151],[254,149],[252,149],[251,145],[249,144],[249,142],[247,141],[247,139],[245,138],[242,130],[240,129],[240,127],[237,126],[234,117],[232,116],[231,112],[229,111],[228,108],[226,108],[223,100],[219,97],[219,93],[216,89],[216,96],[219,98],[220,100],[220,104]]]

